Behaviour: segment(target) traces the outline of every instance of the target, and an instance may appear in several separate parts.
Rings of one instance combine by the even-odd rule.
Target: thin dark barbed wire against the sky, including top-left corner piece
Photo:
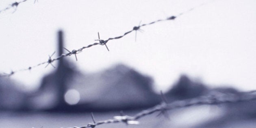
[[[27,1],[27,0],[23,0],[23,1],[21,1],[21,2],[25,2],[25,1]],[[90,47],[92,47],[92,46],[97,46],[97,45],[106,46],[107,50],[109,51],[109,49],[108,49],[108,47],[107,47],[106,44],[107,44],[109,41],[111,41],[111,40],[120,39],[120,38],[122,38],[122,37],[128,35],[129,33],[132,33],[133,31],[135,31],[135,41],[136,41],[137,30],[138,30],[138,31],[141,31],[141,27],[143,27],[143,26],[149,26],[149,25],[151,25],[151,24],[156,24],[156,23],[158,23],[158,22],[169,21],[169,20],[175,20],[177,17],[180,17],[180,16],[182,16],[182,15],[184,15],[184,14],[186,14],[186,13],[189,13],[190,11],[193,11],[195,8],[201,7],[201,6],[203,6],[203,5],[205,5],[205,4],[209,3],[209,2],[212,2],[212,1],[214,1],[214,0],[210,0],[210,1],[208,1],[208,2],[204,2],[204,3],[202,3],[202,4],[199,4],[199,5],[195,6],[195,7],[192,7],[191,9],[188,9],[187,11],[184,11],[184,12],[182,12],[182,13],[179,13],[179,14],[176,15],[176,16],[172,15],[172,16],[170,16],[170,17],[167,17],[166,19],[156,20],[156,21],[150,22],[150,23],[148,23],[148,24],[141,24],[141,25],[139,24],[138,26],[134,26],[134,27],[132,28],[132,30],[127,31],[126,33],[124,33],[124,34],[121,35],[121,36],[110,37],[110,38],[108,38],[108,39],[106,39],[106,40],[103,40],[103,39],[100,39],[100,33],[98,33],[98,39],[96,39],[95,41],[99,41],[99,42],[91,43],[91,44],[88,45],[88,46],[83,46],[82,48],[79,48],[79,49],[77,49],[77,50],[72,50],[72,51],[69,51],[69,50],[67,50],[67,48],[64,48],[65,50],[68,51],[68,53],[62,54],[61,56],[58,56],[58,57],[56,57],[55,59],[52,59],[52,58],[51,58],[52,56],[49,55],[48,61],[39,63],[39,64],[34,65],[34,66],[29,66],[28,68],[18,69],[18,70],[16,70],[16,71],[11,71],[10,73],[0,73],[0,77],[5,77],[5,76],[9,77],[9,76],[14,75],[14,74],[17,73],[17,72],[30,71],[31,69],[33,69],[33,68],[35,68],[35,67],[38,67],[38,66],[40,66],[40,65],[44,65],[44,64],[47,64],[47,65],[46,65],[46,67],[47,67],[49,64],[52,65],[52,63],[53,63],[54,61],[58,61],[59,59],[61,59],[61,58],[63,58],[63,57],[72,56],[72,55],[75,55],[75,57],[76,57],[76,54],[77,54],[78,52],[82,52],[84,49],[90,48]],[[11,4],[11,7],[17,7],[21,2],[15,2],[15,3]],[[35,0],[35,2],[36,2],[36,0]],[[7,9],[9,9],[9,8],[7,7],[5,10],[7,10]],[[141,22],[140,22],[140,23],[141,23]],[[76,61],[77,61],[77,57],[76,57]],[[54,67],[54,65],[52,65],[52,67]],[[54,68],[55,68],[55,67],[54,67]]]

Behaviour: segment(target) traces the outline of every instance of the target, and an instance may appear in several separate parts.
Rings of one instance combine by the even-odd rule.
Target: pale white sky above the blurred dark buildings
[[[1,0],[0,9],[13,2]],[[101,39],[117,37],[140,21],[186,12],[175,20],[141,27],[144,32],[137,33],[136,42],[132,32],[109,41],[110,52],[95,46],[77,54],[77,62],[74,56],[68,58],[88,73],[124,63],[151,76],[156,90],[166,91],[180,74],[210,87],[256,89],[255,0],[27,0],[13,11],[0,13],[0,72],[47,61],[56,51],[58,30],[64,31],[65,48],[77,50],[94,43],[98,32]],[[53,70],[42,65],[11,79],[33,89]]]

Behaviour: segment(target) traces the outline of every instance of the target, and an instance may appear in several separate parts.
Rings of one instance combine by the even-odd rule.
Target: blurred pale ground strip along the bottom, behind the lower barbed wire
[[[133,116],[139,111],[125,111],[126,115]],[[153,113],[139,119],[139,125],[124,123],[102,124],[97,128],[204,128],[201,124],[221,117],[221,106],[193,106],[169,111],[170,120],[163,116],[156,117]],[[112,119],[119,115],[118,111],[94,113],[96,121]],[[92,122],[91,114],[86,113],[47,113],[47,112],[0,112],[1,128],[68,128],[84,126]],[[221,123],[221,122],[220,122]],[[201,125],[201,126],[200,126]],[[256,119],[229,121],[223,126],[210,126],[209,128],[255,128]]]

